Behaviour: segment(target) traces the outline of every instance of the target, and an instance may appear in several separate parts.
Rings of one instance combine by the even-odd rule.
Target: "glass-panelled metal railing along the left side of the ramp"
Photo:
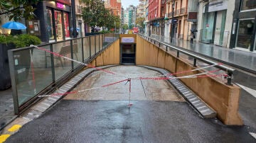
[[[89,63],[117,39],[118,34],[107,33],[9,50],[14,113],[58,89],[85,67],[60,55]]]

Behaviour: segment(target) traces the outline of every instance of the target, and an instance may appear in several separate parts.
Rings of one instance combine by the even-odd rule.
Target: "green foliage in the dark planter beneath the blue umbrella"
[[[21,35],[0,35],[0,43],[10,44],[14,43],[15,47],[28,47],[30,45],[39,45],[41,44],[41,40],[29,34],[21,34]]]

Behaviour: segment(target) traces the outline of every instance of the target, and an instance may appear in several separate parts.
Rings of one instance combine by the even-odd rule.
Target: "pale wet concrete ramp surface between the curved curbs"
[[[117,66],[106,69],[129,78],[160,76],[159,72],[137,66]],[[73,91],[82,91],[122,81],[126,78],[109,74],[105,71],[95,71],[85,78]],[[166,80],[139,80],[131,81],[131,100],[144,101],[181,101],[185,100]],[[68,100],[129,100],[129,83],[119,84],[82,91],[65,96]]]

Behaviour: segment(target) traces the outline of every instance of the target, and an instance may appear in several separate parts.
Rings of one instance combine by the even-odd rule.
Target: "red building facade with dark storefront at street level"
[[[166,0],[149,0],[149,35],[164,36],[164,16]]]

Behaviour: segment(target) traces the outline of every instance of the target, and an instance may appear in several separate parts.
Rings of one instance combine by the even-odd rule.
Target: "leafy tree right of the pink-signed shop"
[[[85,7],[82,8],[82,19],[86,21],[95,32],[96,26],[102,27],[109,11],[101,0],[81,0]]]

